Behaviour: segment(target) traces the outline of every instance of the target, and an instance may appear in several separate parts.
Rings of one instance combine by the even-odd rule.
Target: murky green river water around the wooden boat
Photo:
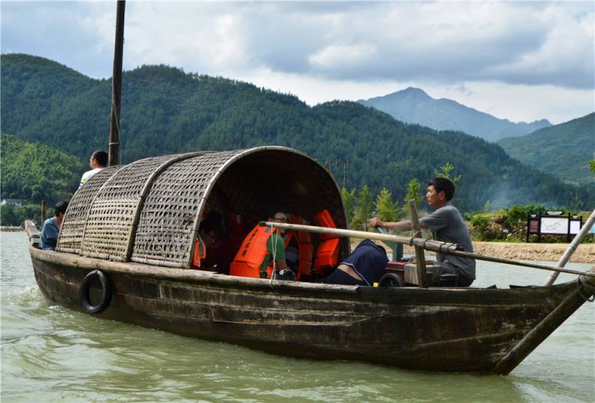
[[[44,298],[24,233],[1,233],[0,248],[2,402],[595,401],[593,303],[509,376],[435,374],[279,357],[101,320]],[[541,285],[547,274],[478,262],[474,285]]]

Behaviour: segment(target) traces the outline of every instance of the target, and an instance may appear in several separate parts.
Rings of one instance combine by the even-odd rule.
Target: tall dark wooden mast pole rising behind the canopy
[[[126,1],[116,4],[116,44],[114,46],[114,71],[111,77],[111,121],[109,123],[109,166],[120,160],[120,101],[122,93],[122,54],[124,53],[124,9]]]

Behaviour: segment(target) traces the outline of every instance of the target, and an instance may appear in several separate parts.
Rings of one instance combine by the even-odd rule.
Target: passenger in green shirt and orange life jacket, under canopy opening
[[[269,212],[267,221],[287,223],[288,217],[284,208],[271,208]],[[242,241],[234,261],[229,266],[229,274],[269,278],[273,272],[273,265],[275,270],[289,269],[285,260],[285,233],[281,228],[256,225]]]

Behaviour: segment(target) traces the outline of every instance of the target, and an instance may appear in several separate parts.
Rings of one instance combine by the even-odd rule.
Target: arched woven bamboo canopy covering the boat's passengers
[[[75,193],[56,250],[188,268],[206,214],[241,214],[252,225],[266,219],[269,205],[284,205],[310,223],[326,208],[337,228],[346,228],[330,173],[304,153],[267,146],[163,155],[106,168]],[[341,242],[349,252],[347,240]]]

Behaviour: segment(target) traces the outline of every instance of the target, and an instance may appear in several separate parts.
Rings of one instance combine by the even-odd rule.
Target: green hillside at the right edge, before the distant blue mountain
[[[499,145],[521,163],[553,173],[566,183],[595,186],[595,175],[589,170],[589,160],[595,158],[595,113],[527,136],[505,138]]]

